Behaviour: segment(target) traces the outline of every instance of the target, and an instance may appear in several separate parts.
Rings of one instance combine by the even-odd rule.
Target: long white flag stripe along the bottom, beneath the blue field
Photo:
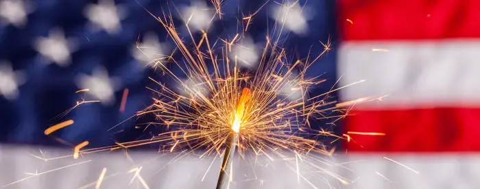
[[[2,146],[0,150],[0,184],[8,185],[5,188],[94,188],[103,168],[107,169],[101,188],[143,188],[139,178],[129,184],[135,175],[131,170],[140,167],[139,175],[149,188],[215,188],[220,169],[219,158],[155,151],[130,151],[128,157],[110,152],[44,161],[34,155],[48,158],[73,152],[42,149],[40,153],[38,147]],[[265,155],[234,157],[230,188],[480,188],[480,153],[296,157],[295,153],[273,161]]]

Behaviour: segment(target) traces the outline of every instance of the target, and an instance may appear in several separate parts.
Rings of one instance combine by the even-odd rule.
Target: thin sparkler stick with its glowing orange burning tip
[[[228,135],[228,138],[226,140],[227,146],[225,149],[224,160],[223,162],[221,162],[221,170],[218,176],[217,189],[228,188],[229,177],[227,174],[232,171],[229,170],[229,168],[232,164],[232,157],[235,154],[236,145],[239,140],[239,131],[245,108],[247,106],[247,101],[248,99],[250,99],[251,95],[252,92],[249,88],[243,88],[239,103],[237,105],[237,110],[235,111],[235,118],[232,123],[232,131],[230,131],[230,134]]]

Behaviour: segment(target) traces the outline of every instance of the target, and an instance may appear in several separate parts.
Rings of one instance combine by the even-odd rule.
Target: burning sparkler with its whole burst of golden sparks
[[[219,2],[213,3],[215,8],[219,9]],[[200,30],[201,38],[195,40],[189,22],[186,22],[190,43],[178,34],[172,14],[164,14],[163,17],[152,14],[176,44],[176,51],[171,55],[152,60],[153,67],[176,81],[181,91],[176,90],[178,86],[172,87],[150,78],[159,86],[149,88],[158,97],[136,116],[153,114],[156,121],[147,126],[159,125],[167,131],[145,140],[80,151],[80,148],[88,144],[84,142],[82,147],[75,148],[75,157],[79,153],[124,149],[156,142],[162,142],[163,150],[170,152],[189,149],[189,153],[193,153],[203,149],[200,157],[224,154],[217,188],[226,188],[230,183],[227,174],[233,171],[232,156],[236,151],[241,157],[265,155],[269,160],[285,160],[285,152],[290,152],[296,155],[294,160],[298,179],[305,179],[300,175],[299,168],[302,165],[299,165],[299,160],[303,161],[312,153],[331,155],[334,150],[319,142],[317,139],[320,136],[350,140],[350,136],[335,136],[330,131],[312,129],[311,121],[335,118],[328,116],[327,112],[372,99],[363,98],[341,104],[328,101],[331,92],[347,86],[309,97],[309,89],[325,79],[307,78],[306,72],[313,62],[331,49],[331,42],[322,43],[323,51],[318,55],[292,62],[285,49],[280,47],[280,34],[285,23],[275,23],[272,34],[279,34],[266,37],[256,67],[250,67],[250,71],[241,71],[243,60],[237,55],[232,56],[235,54],[232,46],[241,44],[245,36],[243,33],[247,31],[254,14],[239,19],[243,26],[241,34],[236,34],[231,39],[211,40],[206,31]],[[187,16],[189,18],[182,20],[191,21],[194,15]],[[177,58],[178,54],[181,58]],[[171,66],[175,66],[180,73],[173,71]],[[318,173],[315,170],[321,168],[311,165],[305,169]],[[347,182],[338,175],[333,177]]]

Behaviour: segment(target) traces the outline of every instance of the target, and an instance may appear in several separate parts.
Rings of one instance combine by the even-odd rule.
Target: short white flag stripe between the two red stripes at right
[[[480,41],[345,42],[339,53],[343,101],[382,97],[370,107],[480,104]],[[475,105],[475,104],[473,104]]]

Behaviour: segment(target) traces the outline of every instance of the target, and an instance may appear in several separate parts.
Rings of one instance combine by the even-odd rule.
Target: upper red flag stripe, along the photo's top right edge
[[[479,0],[339,0],[339,12],[343,40],[480,37]]]

